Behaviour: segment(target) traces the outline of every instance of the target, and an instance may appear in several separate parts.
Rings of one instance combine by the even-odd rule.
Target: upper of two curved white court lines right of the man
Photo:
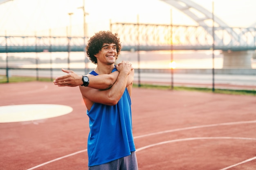
[[[191,126],[191,127],[185,127],[185,128],[179,128],[179,129],[171,129],[171,130],[167,130],[167,131],[148,133],[146,135],[139,135],[139,136],[134,137],[134,139],[141,138],[141,137],[152,136],[152,135],[159,135],[159,134],[163,134],[163,133],[184,131],[184,130],[189,130],[189,129],[198,129],[198,128],[205,128],[205,127],[213,127],[213,126],[225,126],[225,125],[233,125],[233,124],[246,124],[246,123],[256,123],[256,120],[244,121],[244,122],[229,122],[229,123],[208,124],[208,125]]]

